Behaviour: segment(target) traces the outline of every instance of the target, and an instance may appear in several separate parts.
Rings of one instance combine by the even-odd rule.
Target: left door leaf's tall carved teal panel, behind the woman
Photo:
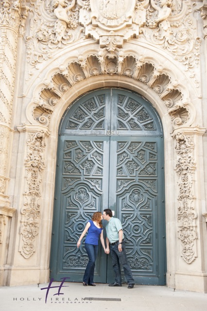
[[[53,229],[57,267],[52,277],[56,280],[66,273],[71,281],[83,279],[88,261],[85,238],[79,249],[76,243],[92,214],[108,202],[109,140],[109,137],[98,137],[92,141],[89,137],[68,135],[60,138],[57,174],[62,175],[62,181],[59,179],[56,185],[60,195],[56,198]],[[102,249],[99,253],[96,281],[105,282],[106,255],[102,254]]]

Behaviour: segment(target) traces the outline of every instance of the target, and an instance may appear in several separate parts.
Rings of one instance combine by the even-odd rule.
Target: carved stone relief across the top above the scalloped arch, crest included
[[[124,42],[137,39],[171,54],[199,87],[195,69],[200,60],[200,38],[193,17],[199,9],[195,3],[191,5],[190,0],[30,2],[26,79],[54,52],[77,40],[92,37],[101,49],[114,52],[123,49]],[[205,5],[202,12],[204,9]],[[108,70],[108,73],[117,73],[113,61],[108,63]]]

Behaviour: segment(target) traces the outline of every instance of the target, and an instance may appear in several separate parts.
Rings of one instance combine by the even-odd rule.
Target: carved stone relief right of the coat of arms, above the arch
[[[193,10],[196,10],[196,4],[181,0],[151,0],[150,4],[146,26],[140,30],[140,39],[144,37],[155,46],[170,52],[189,71],[198,87],[194,69],[199,64],[201,39],[195,32]]]

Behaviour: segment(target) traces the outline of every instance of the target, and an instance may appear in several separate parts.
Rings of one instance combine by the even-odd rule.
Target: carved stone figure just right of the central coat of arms
[[[155,4],[155,0],[151,0],[152,7],[158,11],[157,17],[154,19],[154,23],[158,24],[161,32],[161,37],[169,37],[171,33],[171,26],[167,18],[171,14],[172,1],[171,0],[161,0],[160,6]]]

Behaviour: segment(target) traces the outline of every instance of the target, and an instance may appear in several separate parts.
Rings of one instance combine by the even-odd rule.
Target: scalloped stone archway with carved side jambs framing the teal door
[[[21,210],[19,243],[19,252],[25,259],[35,258],[38,244],[42,250],[42,260],[48,262],[49,248],[45,249],[40,242],[38,230],[44,228],[44,235],[41,236],[43,241],[51,235],[57,128],[61,117],[73,100],[88,89],[112,85],[135,90],[144,95],[154,105],[163,122],[167,138],[165,143],[168,177],[167,232],[169,237],[172,237],[177,231],[177,238],[174,240],[169,240],[167,237],[168,285],[174,286],[173,267],[176,260],[185,262],[185,265],[196,259],[196,213],[193,211],[196,198],[192,195],[195,165],[191,154],[194,151],[195,141],[200,140],[204,131],[192,126],[195,109],[190,102],[189,90],[180,83],[184,79],[183,74],[180,73],[178,78],[175,73],[179,70],[176,69],[173,73],[172,64],[169,65],[171,70],[166,68],[167,61],[165,67],[160,64],[161,56],[155,59],[152,55],[143,56],[140,53],[119,51],[114,52],[112,57],[107,51],[100,52],[92,49],[79,56],[70,56],[69,60],[62,62],[59,67],[51,66],[51,70],[47,70],[44,75],[45,79],[35,86],[33,100],[26,111],[31,125],[18,126],[19,132],[24,134],[23,139],[27,140],[25,155],[27,190],[22,197],[24,207]],[[172,132],[175,140],[171,137]],[[30,158],[32,150],[36,150],[35,159]],[[176,163],[177,173],[174,172],[174,163]],[[189,186],[183,182],[184,175],[187,176]],[[174,179],[180,179],[178,186]],[[45,222],[43,224],[43,219],[46,219],[47,226]],[[173,223],[173,226],[170,226],[170,223]],[[29,239],[24,231],[28,225],[33,232]],[[189,233],[191,239],[186,240],[186,235],[188,236]],[[180,248],[177,251],[179,259],[169,255],[170,243],[173,243],[175,249]],[[43,278],[47,279],[49,268],[43,272],[43,275]]]

